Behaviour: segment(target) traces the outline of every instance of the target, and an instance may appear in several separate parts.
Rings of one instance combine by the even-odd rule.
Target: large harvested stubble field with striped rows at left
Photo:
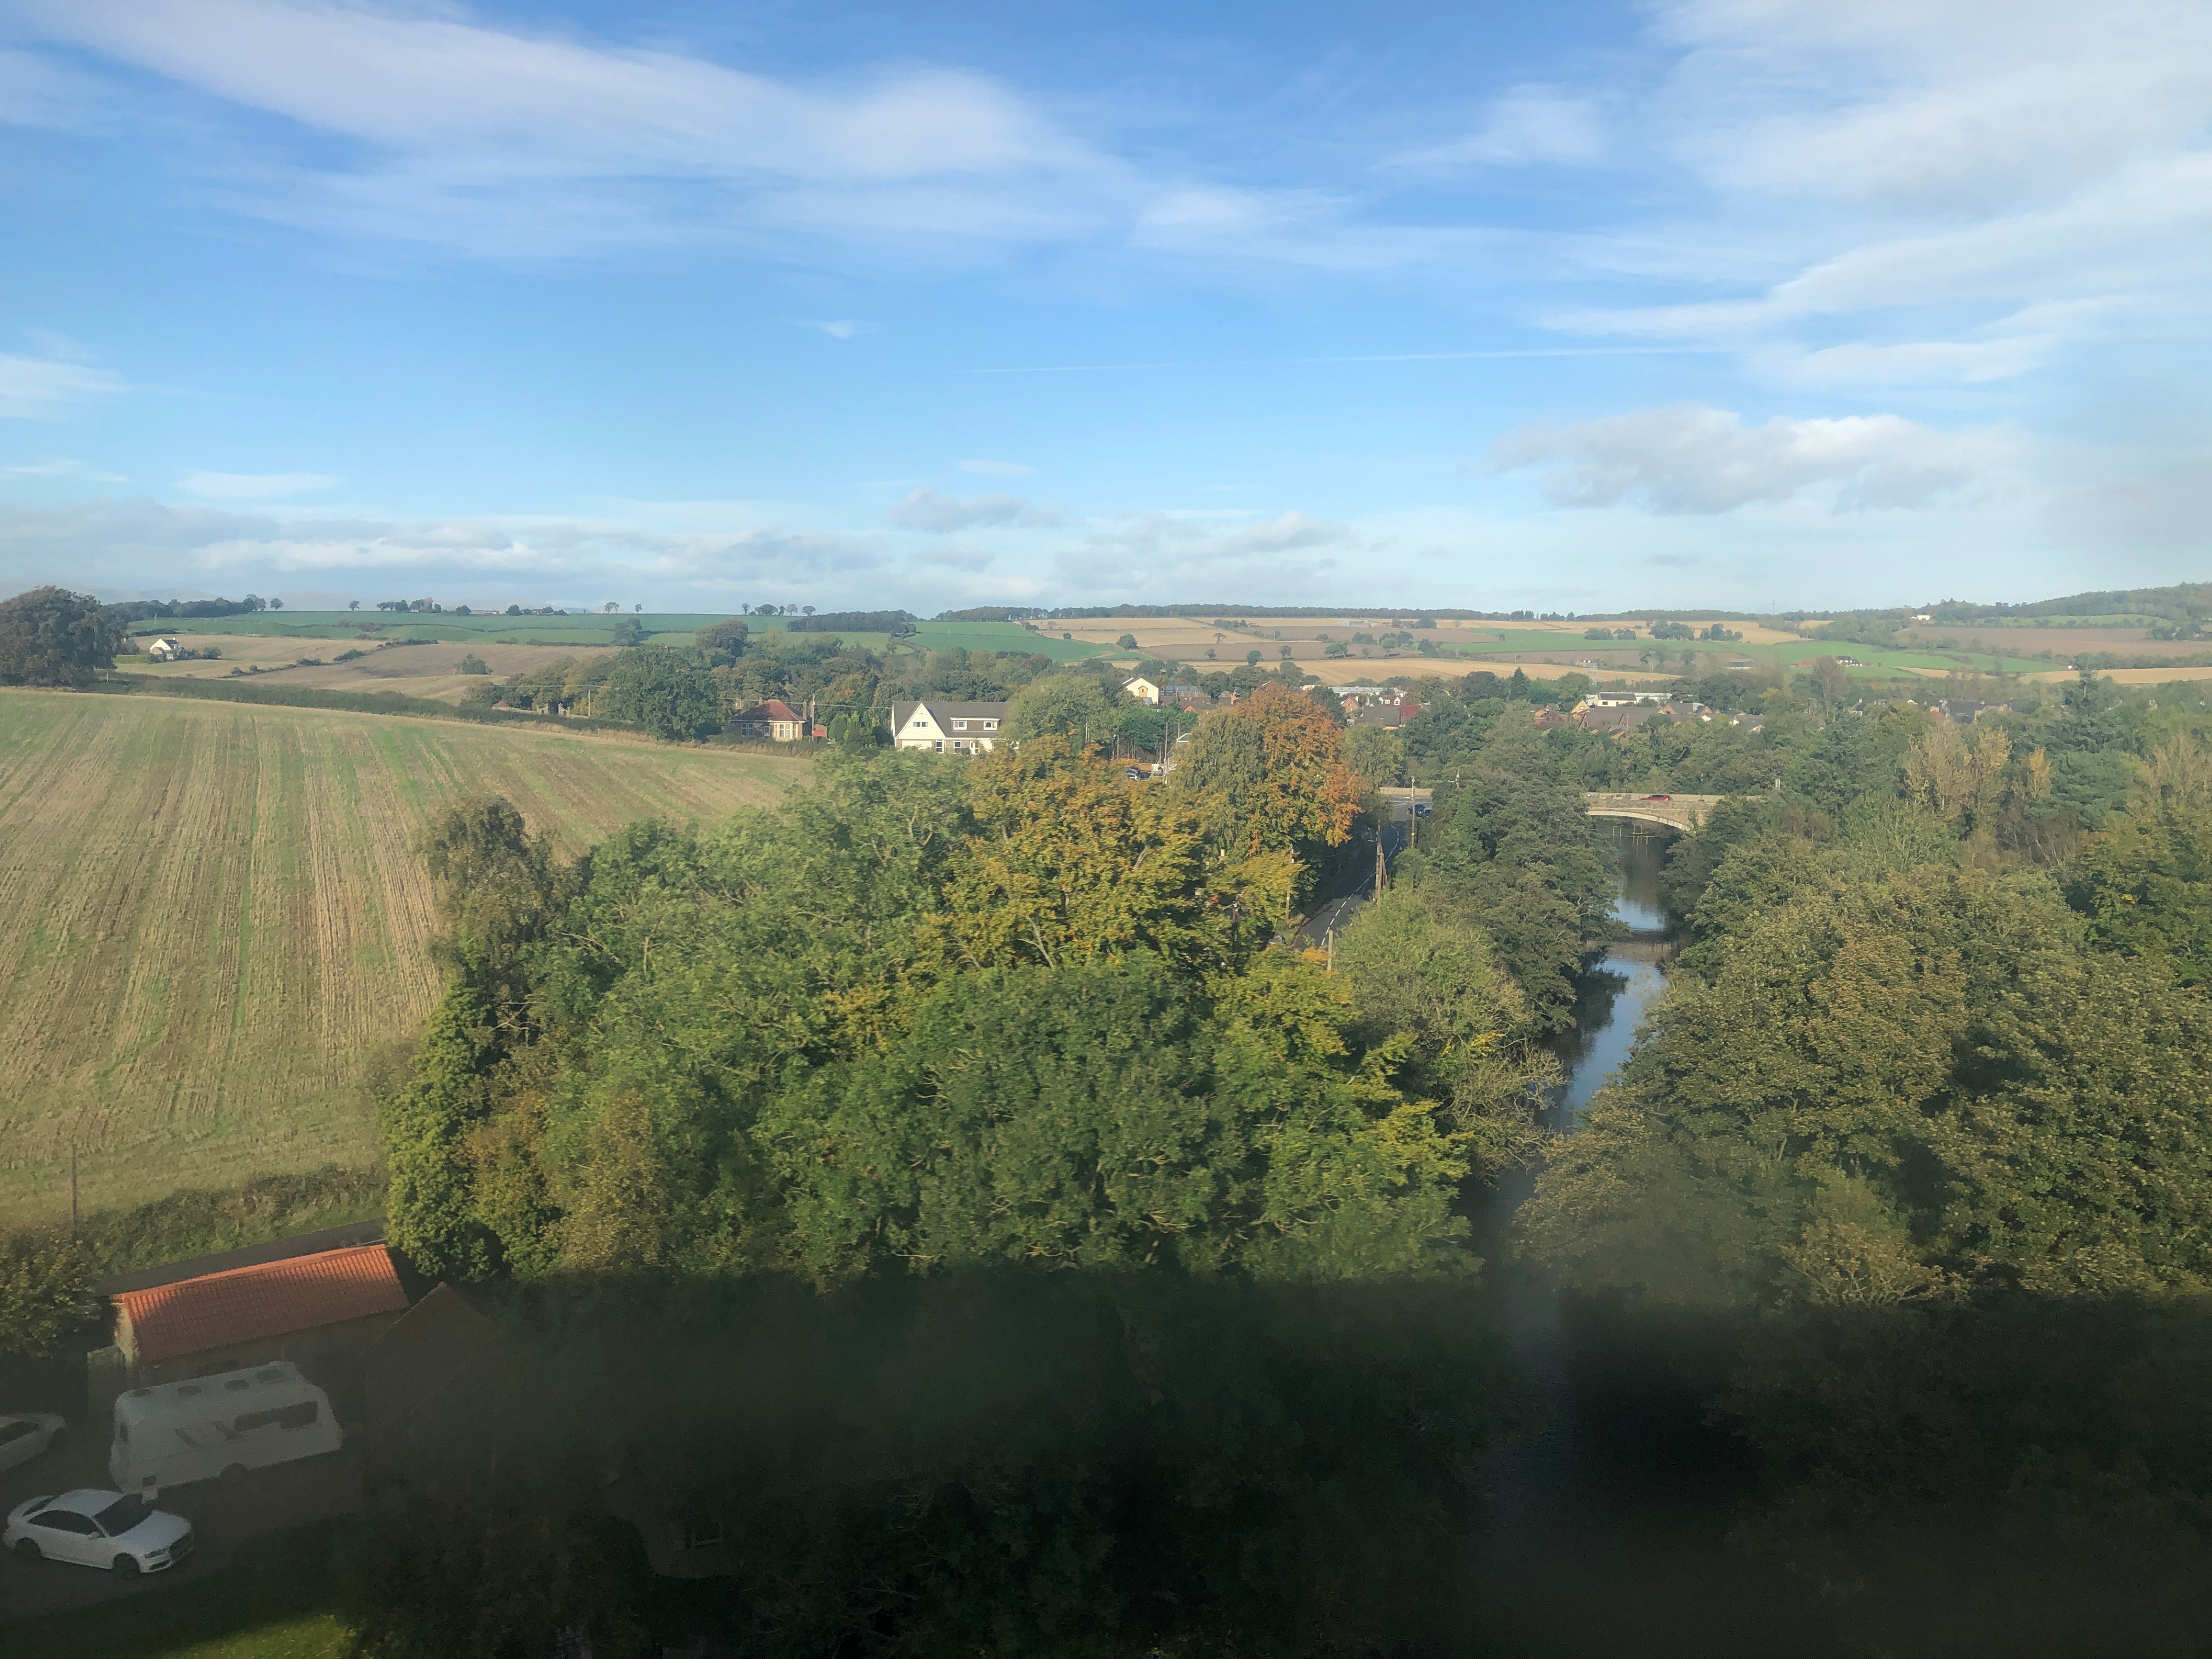
[[[774,801],[805,761],[155,697],[0,692],[0,1217],[372,1157],[436,998],[425,818],[573,852]]]

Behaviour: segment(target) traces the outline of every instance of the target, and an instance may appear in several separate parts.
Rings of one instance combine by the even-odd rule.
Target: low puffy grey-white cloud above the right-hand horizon
[[[1484,471],[1542,469],[1557,507],[1637,502],[1655,513],[1730,513],[1820,495],[1838,513],[1927,507],[2017,458],[1995,431],[1933,431],[1902,416],[1745,425],[1728,409],[1668,409],[1524,427],[1500,438]]]

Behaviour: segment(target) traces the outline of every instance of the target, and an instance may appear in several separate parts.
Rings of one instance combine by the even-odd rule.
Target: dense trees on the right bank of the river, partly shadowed
[[[1723,805],[1670,860],[1670,991],[1520,1219],[1763,1453],[1745,1537],[1871,1648],[1929,1646],[1907,1595],[1966,1648],[2095,1646],[2212,1566],[2212,799],[2203,714],[2146,703],[1927,728],[1887,774],[1838,717]]]

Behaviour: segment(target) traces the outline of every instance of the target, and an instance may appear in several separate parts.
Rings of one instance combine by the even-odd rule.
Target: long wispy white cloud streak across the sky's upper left
[[[478,257],[1082,234],[1126,173],[953,69],[810,86],[409,4],[31,0],[24,20],[288,122],[210,153],[232,210]]]

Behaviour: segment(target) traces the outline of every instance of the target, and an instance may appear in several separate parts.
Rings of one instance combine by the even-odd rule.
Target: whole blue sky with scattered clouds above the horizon
[[[0,0],[0,591],[2203,580],[2212,7]]]

